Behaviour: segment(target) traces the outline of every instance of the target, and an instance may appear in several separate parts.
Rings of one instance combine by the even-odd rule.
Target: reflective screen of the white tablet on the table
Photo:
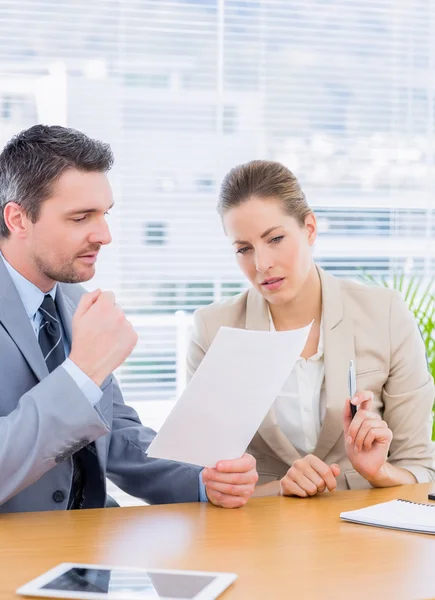
[[[189,600],[214,580],[215,577],[209,575],[74,567],[41,586],[41,590]]]

